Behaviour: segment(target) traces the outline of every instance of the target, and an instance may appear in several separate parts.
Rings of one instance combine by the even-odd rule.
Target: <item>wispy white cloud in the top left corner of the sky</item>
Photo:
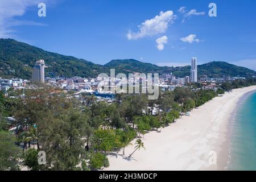
[[[11,38],[15,30],[13,27],[20,25],[42,26],[30,20],[15,20],[17,16],[23,16],[28,7],[36,6],[40,0],[1,0],[0,1],[0,38]],[[48,1],[44,1],[48,2]],[[37,12],[35,12],[35,16]]]

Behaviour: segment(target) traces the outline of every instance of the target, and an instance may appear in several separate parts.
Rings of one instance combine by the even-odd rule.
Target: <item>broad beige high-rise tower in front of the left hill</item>
[[[32,70],[32,82],[44,83],[44,60],[36,61],[35,67]]]

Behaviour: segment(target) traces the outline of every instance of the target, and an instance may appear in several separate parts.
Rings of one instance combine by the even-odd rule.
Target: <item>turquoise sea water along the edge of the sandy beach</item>
[[[256,170],[256,92],[243,97],[234,112],[229,170]]]

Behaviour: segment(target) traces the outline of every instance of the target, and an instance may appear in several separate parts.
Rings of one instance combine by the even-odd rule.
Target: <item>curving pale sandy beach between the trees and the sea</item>
[[[225,170],[229,156],[229,126],[237,102],[256,86],[234,89],[223,97],[216,97],[198,109],[190,117],[182,117],[176,123],[152,131],[142,139],[144,147],[134,151],[134,145],[117,155],[109,156],[110,167],[105,170]],[[134,143],[134,141],[133,141]],[[217,154],[217,164],[209,164],[209,152]]]

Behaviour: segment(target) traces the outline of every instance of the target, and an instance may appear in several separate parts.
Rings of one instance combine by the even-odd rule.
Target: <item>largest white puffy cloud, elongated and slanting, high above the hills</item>
[[[145,20],[141,23],[138,32],[132,32],[131,30],[127,34],[129,40],[137,40],[146,36],[153,36],[163,34],[166,32],[170,23],[176,18],[173,11],[161,11],[155,18]]]

